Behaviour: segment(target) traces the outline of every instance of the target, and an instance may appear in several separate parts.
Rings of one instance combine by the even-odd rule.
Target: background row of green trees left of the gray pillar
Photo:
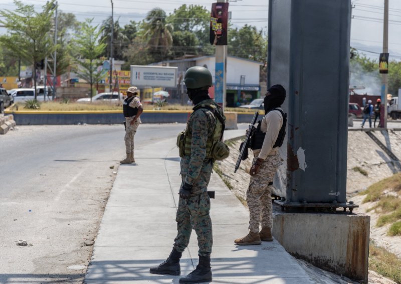
[[[215,46],[209,43],[210,11],[202,5],[183,4],[168,15],[154,8],[143,20],[125,25],[117,18],[111,43],[111,16],[94,25],[93,19],[79,22],[73,13],[58,11],[54,42],[55,0],[47,2],[41,11],[20,0],[14,3],[15,10],[0,10],[0,23],[7,28],[0,36],[0,75],[17,75],[19,60],[32,65],[35,74],[38,62],[45,57],[51,60],[57,50],[56,74],[72,68],[92,89],[104,77],[98,66],[110,57],[111,44],[114,59],[125,61],[124,70],[131,64],[215,54]],[[228,42],[229,55],[263,62],[261,79],[266,80],[267,32],[249,24],[241,28],[229,24]],[[36,86],[36,76],[34,80]]]

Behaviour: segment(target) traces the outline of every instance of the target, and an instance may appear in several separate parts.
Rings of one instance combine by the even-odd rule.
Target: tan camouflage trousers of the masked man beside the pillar
[[[254,157],[253,162],[257,157]],[[279,154],[271,155],[259,167],[259,171],[251,176],[247,190],[247,204],[249,207],[249,230],[259,232],[259,225],[272,227],[272,186],[274,174],[281,164]]]

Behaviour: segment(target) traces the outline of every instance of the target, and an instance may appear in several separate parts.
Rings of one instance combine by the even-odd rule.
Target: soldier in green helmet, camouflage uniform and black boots
[[[200,283],[212,281],[210,256],[213,236],[207,187],[214,163],[209,155],[210,141],[216,132],[218,119],[211,108],[218,111],[220,117],[224,117],[224,114],[220,106],[209,96],[212,74],[207,68],[200,66],[189,68],[185,72],[184,82],[189,99],[195,106],[187,122],[184,144],[180,147],[182,182],[175,219],[178,232],[170,256],[159,266],[150,268],[150,273],[179,275],[179,259],[194,229],[199,246],[199,264],[187,276],[180,278],[179,283]],[[219,136],[222,131],[223,129],[218,133]]]

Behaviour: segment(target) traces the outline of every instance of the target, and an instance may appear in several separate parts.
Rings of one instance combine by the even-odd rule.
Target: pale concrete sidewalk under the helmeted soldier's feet
[[[228,130],[229,139],[244,130]],[[182,254],[181,276],[156,275],[149,267],[169,255],[176,235],[179,156],[175,138],[135,152],[136,164],[120,165],[110,193],[85,283],[178,283],[198,261],[196,234]],[[233,169],[234,170],[234,169]],[[213,222],[213,283],[313,283],[298,262],[275,240],[237,246],[248,233],[248,211],[216,174],[209,190]]]

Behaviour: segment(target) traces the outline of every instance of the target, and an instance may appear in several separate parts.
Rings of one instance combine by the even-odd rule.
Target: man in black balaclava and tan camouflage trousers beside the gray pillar
[[[263,138],[261,143],[256,143],[258,145],[255,145],[255,148],[251,146],[254,159],[249,172],[251,179],[247,190],[249,233],[234,241],[238,245],[261,244],[262,240],[273,240],[272,184],[276,170],[281,165],[279,147],[276,143],[284,120],[282,112],[278,109],[281,110],[280,106],[285,96],[286,91],[282,85],[273,85],[266,92],[264,99],[266,114],[260,127]],[[260,225],[262,225],[261,231],[259,231]]]

